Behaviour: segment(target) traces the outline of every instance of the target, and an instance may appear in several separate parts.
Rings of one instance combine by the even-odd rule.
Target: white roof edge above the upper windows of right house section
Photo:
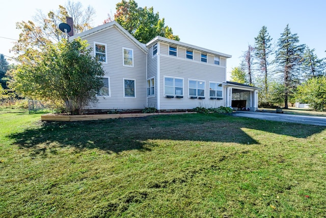
[[[221,53],[221,52],[215,52],[215,51],[212,51],[212,50],[209,50],[209,49],[204,49],[203,47],[199,47],[199,46],[196,46],[196,45],[176,41],[176,40],[173,40],[173,39],[168,39],[168,38],[165,38],[165,37],[162,37],[162,36],[156,36],[151,41],[149,41],[146,44],[146,46],[147,47],[152,46],[152,45],[156,44],[157,42],[165,42],[165,43],[168,43],[168,44],[171,44],[171,45],[174,45],[174,46],[184,47],[185,49],[195,50],[195,51],[202,52],[202,53],[207,53],[207,54],[210,54],[210,55],[218,55],[218,56],[221,56],[221,57],[224,57],[224,58],[231,58],[232,57],[231,55],[227,55],[227,54],[224,54],[224,53]]]

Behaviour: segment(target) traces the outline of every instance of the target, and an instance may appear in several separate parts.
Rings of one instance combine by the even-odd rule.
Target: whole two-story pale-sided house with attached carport
[[[226,81],[231,55],[160,36],[143,44],[116,21],[70,40],[76,37],[88,41],[105,71],[98,103],[89,109],[257,109],[257,88]]]

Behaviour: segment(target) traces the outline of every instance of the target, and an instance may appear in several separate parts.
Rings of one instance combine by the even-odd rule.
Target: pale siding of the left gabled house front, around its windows
[[[116,27],[87,36],[88,43],[106,44],[107,63],[103,63],[104,77],[110,78],[110,97],[99,97],[90,109],[142,109],[147,105],[146,54]],[[133,67],[123,66],[122,48],[133,49]],[[123,79],[135,80],[136,98],[124,98]]]

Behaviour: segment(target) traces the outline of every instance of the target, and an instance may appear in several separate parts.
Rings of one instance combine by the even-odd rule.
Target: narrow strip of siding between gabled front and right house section
[[[148,96],[147,98],[147,107],[155,107],[157,108],[157,55],[152,55],[152,47],[149,48],[147,54],[147,79],[154,78],[155,88],[154,96]],[[147,86],[146,86],[147,87]]]

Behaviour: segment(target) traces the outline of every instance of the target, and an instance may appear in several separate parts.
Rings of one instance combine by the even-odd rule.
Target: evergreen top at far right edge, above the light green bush
[[[303,70],[305,71],[307,78],[325,75],[325,59],[318,59],[314,52],[315,49],[311,50],[308,46],[306,47],[303,60]]]

